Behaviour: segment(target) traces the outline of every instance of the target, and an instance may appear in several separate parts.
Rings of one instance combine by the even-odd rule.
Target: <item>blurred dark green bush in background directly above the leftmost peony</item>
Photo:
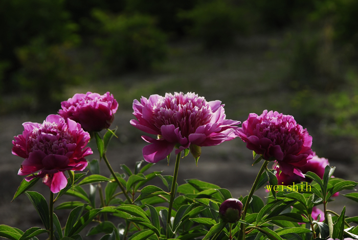
[[[13,78],[21,92],[33,97],[32,110],[56,110],[64,87],[78,83],[69,50],[63,44],[47,45],[43,38],[16,50],[22,67]]]

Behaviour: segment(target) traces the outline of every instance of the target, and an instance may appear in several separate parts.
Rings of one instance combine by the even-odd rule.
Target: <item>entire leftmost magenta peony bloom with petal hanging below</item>
[[[86,147],[89,134],[81,125],[69,119],[67,122],[58,115],[49,115],[42,124],[25,122],[24,132],[12,141],[12,154],[25,158],[18,174],[38,174],[25,178],[42,178],[53,193],[67,184],[66,170],[82,171],[87,166],[84,157],[93,154]]]

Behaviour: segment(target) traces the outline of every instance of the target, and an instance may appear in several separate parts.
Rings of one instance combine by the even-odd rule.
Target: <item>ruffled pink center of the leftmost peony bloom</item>
[[[47,155],[66,154],[67,145],[74,143],[74,137],[67,127],[62,127],[62,124],[44,122],[39,128],[35,128],[28,136],[29,151],[41,150]]]

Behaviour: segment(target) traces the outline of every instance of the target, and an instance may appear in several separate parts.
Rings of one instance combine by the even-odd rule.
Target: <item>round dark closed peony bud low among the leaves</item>
[[[236,223],[242,213],[242,203],[237,199],[225,200],[219,208],[219,215],[224,222]]]

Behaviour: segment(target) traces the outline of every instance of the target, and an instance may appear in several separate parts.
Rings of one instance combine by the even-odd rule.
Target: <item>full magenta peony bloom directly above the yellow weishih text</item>
[[[260,116],[251,113],[236,134],[263,159],[277,160],[283,173],[304,177],[298,167],[313,156],[312,137],[294,117],[267,110]]]

